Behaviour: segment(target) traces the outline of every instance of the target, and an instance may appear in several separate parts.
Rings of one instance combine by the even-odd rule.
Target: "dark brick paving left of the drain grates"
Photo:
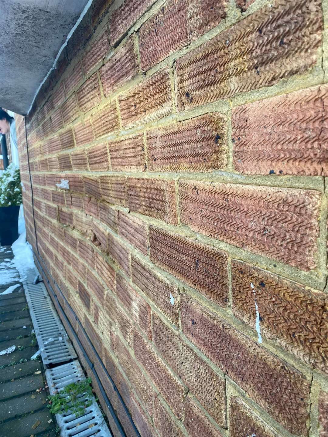
[[[0,264],[6,258],[13,258],[9,250],[10,247],[0,252]],[[0,282],[1,271],[7,269],[8,266],[0,265]],[[13,268],[13,271],[16,270]],[[0,284],[0,293],[18,282]],[[16,346],[14,352],[0,355],[1,437],[57,435],[55,417],[46,408],[49,393],[45,369],[41,360],[31,361],[31,356],[38,350],[38,344],[33,345],[32,329],[23,287],[11,294],[0,295],[0,351]]]

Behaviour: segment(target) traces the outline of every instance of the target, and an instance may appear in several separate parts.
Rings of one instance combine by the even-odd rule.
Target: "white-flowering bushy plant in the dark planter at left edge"
[[[11,163],[0,175],[0,208],[21,203],[21,175],[19,168]]]

